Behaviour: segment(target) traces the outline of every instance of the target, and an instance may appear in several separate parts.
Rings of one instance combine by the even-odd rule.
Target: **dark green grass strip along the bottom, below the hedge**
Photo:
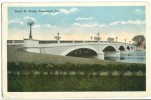
[[[9,92],[145,91],[145,84],[145,76],[8,75]]]

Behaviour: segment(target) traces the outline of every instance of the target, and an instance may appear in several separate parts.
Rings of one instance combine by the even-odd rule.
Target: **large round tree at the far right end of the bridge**
[[[141,44],[146,40],[144,35],[137,35],[137,36],[134,36],[133,39],[134,41],[134,44],[138,47],[141,46]]]

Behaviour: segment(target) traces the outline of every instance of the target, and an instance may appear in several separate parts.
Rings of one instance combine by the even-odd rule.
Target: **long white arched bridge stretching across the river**
[[[92,50],[97,54],[98,59],[104,57],[120,57],[122,51],[132,51],[136,47],[132,44],[106,41],[40,41],[24,39],[23,49],[27,52],[42,54],[53,54],[66,56],[78,49]]]

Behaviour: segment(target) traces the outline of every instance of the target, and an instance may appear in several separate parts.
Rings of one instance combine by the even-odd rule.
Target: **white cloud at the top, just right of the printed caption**
[[[77,8],[71,8],[69,10],[67,10],[67,9],[59,9],[59,12],[50,13],[50,15],[56,16],[58,14],[70,14],[70,13],[74,13],[76,11],[78,11]]]

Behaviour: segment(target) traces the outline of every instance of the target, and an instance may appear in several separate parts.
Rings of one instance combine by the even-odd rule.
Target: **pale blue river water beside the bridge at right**
[[[118,62],[127,62],[127,63],[146,63],[146,51],[145,50],[136,50],[136,51],[121,51],[121,57],[109,57],[105,60],[112,60]]]

